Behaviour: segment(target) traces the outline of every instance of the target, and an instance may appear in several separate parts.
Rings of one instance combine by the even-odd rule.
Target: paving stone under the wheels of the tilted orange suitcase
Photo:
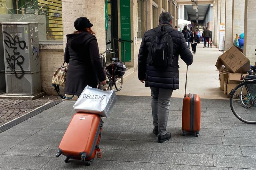
[[[45,157],[42,157],[45,158]],[[63,169],[72,169],[72,170],[84,170],[85,165],[81,160],[69,159],[68,163],[64,162],[64,158],[51,158],[40,170],[63,170]]]

